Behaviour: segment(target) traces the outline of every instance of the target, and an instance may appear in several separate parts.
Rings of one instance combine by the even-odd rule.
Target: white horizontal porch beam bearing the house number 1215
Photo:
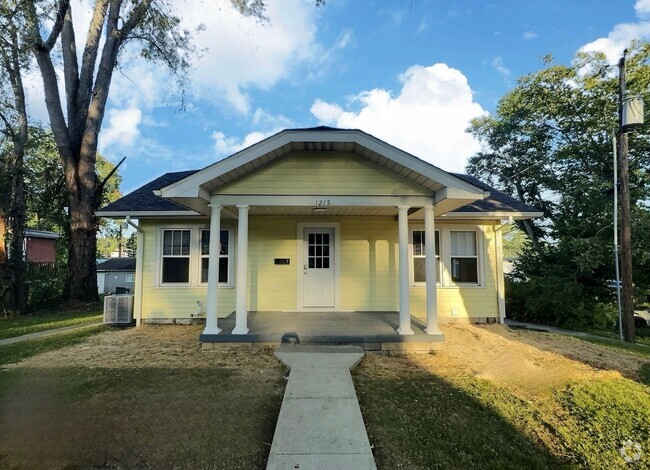
[[[423,207],[433,204],[432,196],[335,196],[335,195],[275,195],[240,196],[216,194],[212,200],[222,206],[238,204],[248,206],[287,207]]]

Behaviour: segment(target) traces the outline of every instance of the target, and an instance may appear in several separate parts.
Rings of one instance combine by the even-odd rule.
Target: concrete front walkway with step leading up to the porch
[[[280,346],[290,369],[267,469],[376,469],[350,369],[355,346]]]

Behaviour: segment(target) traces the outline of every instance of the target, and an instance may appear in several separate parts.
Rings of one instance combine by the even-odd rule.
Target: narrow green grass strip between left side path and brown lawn
[[[83,343],[89,337],[106,331],[107,328],[104,325],[94,325],[44,338],[2,345],[0,346],[0,366],[13,364],[44,352]]]

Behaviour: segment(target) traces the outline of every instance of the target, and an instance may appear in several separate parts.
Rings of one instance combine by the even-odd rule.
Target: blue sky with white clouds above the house
[[[81,1],[81,0],[80,0]],[[117,74],[100,134],[127,193],[154,177],[211,164],[284,128],[360,128],[448,171],[478,143],[464,131],[517,78],[580,49],[615,63],[650,37],[650,0],[269,0],[268,24],[226,0],[178,2],[203,52],[185,86],[130,62]],[[73,4],[80,26],[86,3]],[[87,24],[87,23],[86,23]],[[39,93],[32,111],[44,118]]]

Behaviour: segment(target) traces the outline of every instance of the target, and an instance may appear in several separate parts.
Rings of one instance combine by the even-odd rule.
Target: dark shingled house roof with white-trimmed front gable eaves
[[[202,216],[210,194],[293,151],[342,151],[372,161],[431,194],[452,202],[446,217],[518,218],[542,215],[534,207],[469,175],[448,173],[356,129],[287,129],[201,170],[166,173],[97,212],[103,217]],[[436,206],[438,207],[438,206]]]

